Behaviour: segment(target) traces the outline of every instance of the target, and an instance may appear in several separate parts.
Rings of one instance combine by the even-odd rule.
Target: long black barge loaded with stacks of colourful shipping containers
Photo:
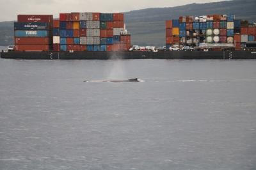
[[[235,15],[185,16],[166,20],[165,51],[129,51],[131,35],[124,13],[18,15],[14,51],[20,59],[256,59],[256,27]],[[170,47],[193,51],[170,51]]]

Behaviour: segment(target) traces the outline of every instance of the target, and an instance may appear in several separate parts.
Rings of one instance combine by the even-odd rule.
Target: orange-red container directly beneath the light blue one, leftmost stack
[[[49,44],[50,39],[45,37],[15,37],[14,43],[18,45],[22,44]]]

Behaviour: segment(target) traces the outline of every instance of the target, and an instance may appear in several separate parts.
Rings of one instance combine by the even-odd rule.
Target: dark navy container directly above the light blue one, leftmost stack
[[[14,22],[14,30],[49,30],[47,22]]]

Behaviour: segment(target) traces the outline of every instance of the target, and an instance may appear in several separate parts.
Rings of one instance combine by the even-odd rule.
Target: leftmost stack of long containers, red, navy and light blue
[[[14,22],[15,50],[52,50],[52,20],[52,15],[18,15]]]

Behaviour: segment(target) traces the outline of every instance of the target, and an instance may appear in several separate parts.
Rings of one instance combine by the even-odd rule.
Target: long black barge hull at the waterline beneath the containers
[[[7,52],[12,59],[256,59],[250,51],[161,51],[161,52]]]

